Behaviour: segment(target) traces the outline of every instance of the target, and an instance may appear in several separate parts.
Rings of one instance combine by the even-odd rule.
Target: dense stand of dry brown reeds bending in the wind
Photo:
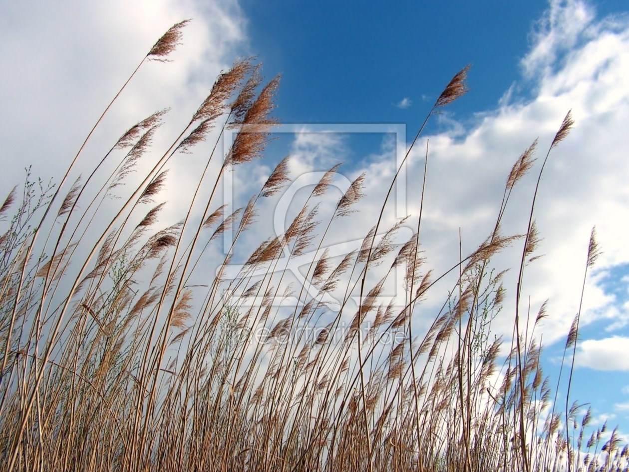
[[[185,25],[170,28],[145,59],[167,60]],[[425,123],[467,91],[466,72],[445,87]],[[392,244],[400,223],[376,237],[398,174],[363,246],[341,261],[323,248],[334,223],[355,216],[364,176],[331,215],[319,215],[317,203],[338,166],[313,187],[284,234],[243,256],[238,241],[260,199],[289,182],[287,160],[244,210],[227,214],[214,193],[227,169],[262,154],[276,121],[277,85],[277,79],[264,85],[251,60],[221,74],[142,183],[114,201],[111,220],[97,214],[152,150],[164,112],[132,126],[106,152],[103,161],[120,159],[113,174],[97,172],[101,161],[67,189],[83,143],[60,186],[27,178],[21,201],[16,189],[8,193],[0,215],[17,208],[0,236],[0,470],[626,469],[627,446],[615,432],[603,441],[603,427],[585,441],[589,410],[578,419],[581,405],[571,405],[569,393],[565,412],[557,409],[556,393],[551,400],[533,335],[545,306],[531,320],[518,310],[538,241],[535,196],[526,235],[504,236],[499,228],[511,190],[532,169],[537,141],[516,160],[487,240],[473,254],[454,255],[452,296],[418,333],[413,313],[446,274],[425,269],[421,212],[406,244]],[[568,115],[544,164],[571,126]],[[219,155],[214,147],[181,222],[156,230],[162,203],[150,202],[159,198],[165,166],[177,153],[192,152],[211,128],[238,130],[230,152]],[[218,174],[208,172],[212,159],[223,162]],[[538,186],[542,172],[543,166]],[[201,216],[192,216],[202,184],[212,191],[202,197]],[[66,196],[58,202],[62,189]],[[199,261],[228,228],[233,240],[218,274],[191,284]],[[85,235],[94,244],[86,247]],[[500,348],[508,341],[489,342],[505,290],[491,258],[513,244],[522,245],[522,257],[518,304],[501,313],[512,313],[516,333],[505,357]],[[287,288],[286,248],[291,258],[313,250],[306,281],[318,295],[310,296],[306,284]],[[246,262],[237,278],[225,279],[235,255]],[[593,232],[584,277],[597,255]],[[385,306],[379,295],[396,267],[406,274],[403,300]],[[338,310],[324,305],[327,292],[342,301]],[[274,303],[288,296],[298,303]],[[565,347],[569,381],[578,329],[579,315]]]

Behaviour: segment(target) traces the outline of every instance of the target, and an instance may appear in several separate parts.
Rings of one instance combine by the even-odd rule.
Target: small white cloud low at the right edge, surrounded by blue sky
[[[603,371],[629,371],[629,337],[586,339],[577,346],[576,365]]]

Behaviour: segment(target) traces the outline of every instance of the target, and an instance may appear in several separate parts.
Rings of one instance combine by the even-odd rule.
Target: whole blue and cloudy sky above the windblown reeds
[[[443,87],[470,64],[469,93],[431,119],[409,155],[397,213],[389,212],[386,223],[399,221],[399,212],[417,215],[430,140],[422,237],[428,264],[443,271],[457,262],[459,228],[464,252],[488,235],[509,169],[539,138],[540,159],[516,188],[503,225],[506,233],[525,231],[540,163],[572,110],[574,129],[550,154],[540,183],[535,217],[543,257],[527,267],[524,292],[532,312],[548,299],[543,362],[556,375],[596,225],[603,254],[586,281],[571,398],[591,402],[595,422],[608,419],[628,437],[627,10],[620,0],[4,2],[0,193],[23,179],[28,164],[35,176],[58,181],[155,40],[192,18],[172,62],[140,70],[81,166],[88,168],[128,126],[165,107],[172,107],[168,119],[175,125],[164,126],[156,145],[169,142],[216,74],[236,57],[255,55],[267,79],[281,74],[276,116],[286,127],[264,161],[235,172],[234,198],[246,201],[286,154],[294,177],[344,162],[348,181],[365,171],[367,185],[360,217],[338,231],[342,244],[374,224],[399,140],[408,145]],[[165,218],[187,205],[182,189],[198,171],[194,159],[172,164]],[[507,252],[497,264],[511,266],[513,256]],[[437,298],[447,289],[435,287]],[[496,320],[497,330],[509,331],[506,318]]]

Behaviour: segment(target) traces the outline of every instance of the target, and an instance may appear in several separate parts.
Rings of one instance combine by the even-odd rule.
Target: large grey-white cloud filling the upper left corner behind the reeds
[[[155,137],[155,154],[140,162],[143,170],[150,168],[155,155],[181,132],[221,69],[243,55],[246,41],[242,12],[228,1],[2,3],[0,18],[0,129],[3,162],[10,162],[0,176],[3,189],[21,183],[28,164],[33,164],[33,176],[53,177],[58,183],[93,123],[152,45],[170,26],[192,18],[182,44],[169,58],[172,62],[145,62],[138,70],[88,143],[75,174],[92,169],[102,150],[131,125],[172,107],[165,117],[167,126]],[[184,162],[173,159],[170,166],[170,208],[189,198],[173,191],[175,180],[199,172]],[[174,217],[174,212],[166,213]]]

